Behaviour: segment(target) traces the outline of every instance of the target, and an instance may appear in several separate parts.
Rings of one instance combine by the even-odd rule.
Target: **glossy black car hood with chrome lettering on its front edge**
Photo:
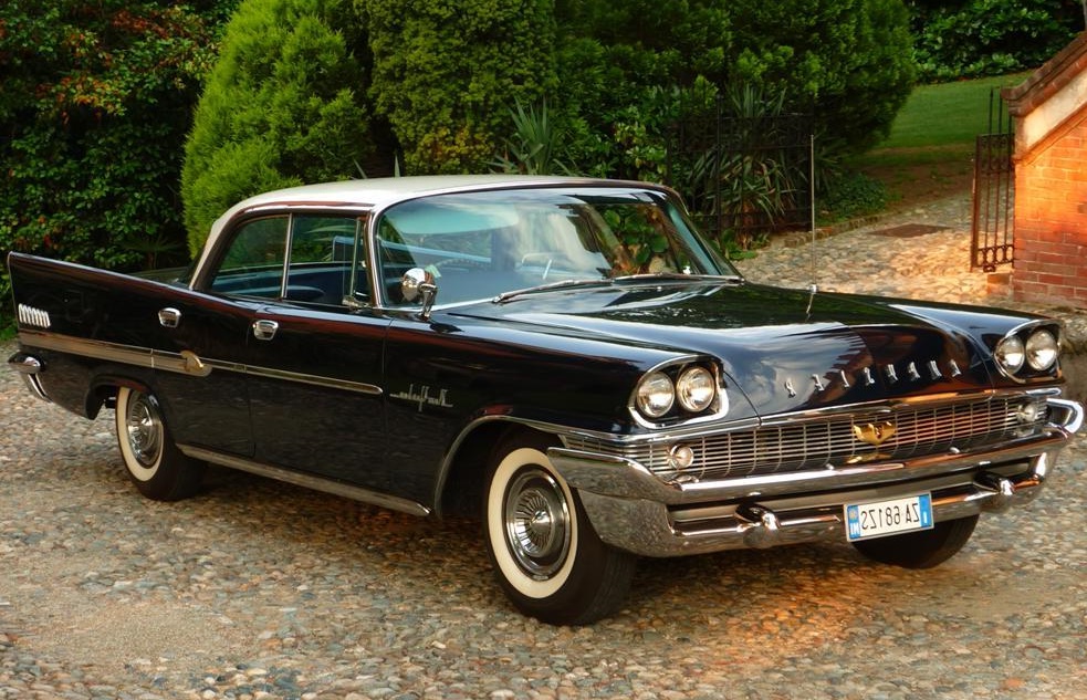
[[[749,283],[614,284],[525,294],[458,316],[715,357],[762,415],[990,388],[959,328],[886,300]]]

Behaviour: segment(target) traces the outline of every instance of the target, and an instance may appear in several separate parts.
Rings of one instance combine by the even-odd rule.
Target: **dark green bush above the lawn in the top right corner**
[[[1035,69],[1084,29],[1079,0],[913,0],[910,10],[926,81]]]

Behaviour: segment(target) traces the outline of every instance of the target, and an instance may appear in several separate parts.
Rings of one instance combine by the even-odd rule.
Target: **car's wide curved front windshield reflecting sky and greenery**
[[[648,189],[519,189],[441,195],[389,208],[377,223],[379,282],[409,304],[405,272],[420,268],[439,304],[513,291],[659,275],[734,276],[673,200]]]

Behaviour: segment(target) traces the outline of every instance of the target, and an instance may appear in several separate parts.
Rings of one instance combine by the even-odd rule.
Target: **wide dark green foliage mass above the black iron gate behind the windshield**
[[[850,150],[887,133],[913,82],[901,0],[567,0],[556,12],[572,92],[551,103],[587,126],[589,158],[612,137],[609,166],[626,175],[660,169],[650,160],[677,116],[675,91],[700,80],[784,93],[787,111],[813,113],[823,137]]]

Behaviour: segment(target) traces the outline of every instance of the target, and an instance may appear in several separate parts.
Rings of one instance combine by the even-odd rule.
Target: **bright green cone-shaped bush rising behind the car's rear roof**
[[[227,27],[185,149],[189,250],[250,195],[358,177],[374,150],[348,0],[244,0]]]

